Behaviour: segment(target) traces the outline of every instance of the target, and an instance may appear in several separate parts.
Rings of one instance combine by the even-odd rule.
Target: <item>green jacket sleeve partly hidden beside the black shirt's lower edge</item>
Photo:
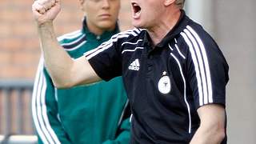
[[[129,144],[130,143],[130,105],[127,101],[124,114],[122,116],[122,122],[117,130],[117,136],[114,140],[107,140],[102,144]]]

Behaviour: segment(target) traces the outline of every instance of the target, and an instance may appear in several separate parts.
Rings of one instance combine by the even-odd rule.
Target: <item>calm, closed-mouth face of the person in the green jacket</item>
[[[103,30],[115,27],[120,10],[120,0],[80,0],[86,12],[86,22]]]

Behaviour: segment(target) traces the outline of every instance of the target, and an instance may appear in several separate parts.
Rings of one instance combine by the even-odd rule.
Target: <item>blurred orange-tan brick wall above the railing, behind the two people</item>
[[[40,50],[38,35],[31,13],[32,0],[0,1],[0,78],[33,79]],[[122,0],[120,26],[130,28],[130,6]],[[62,0],[62,12],[55,21],[57,35],[78,30],[82,12],[78,2]]]

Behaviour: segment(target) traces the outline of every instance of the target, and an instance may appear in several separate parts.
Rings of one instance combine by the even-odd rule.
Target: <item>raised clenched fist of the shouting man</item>
[[[60,0],[36,0],[32,5],[32,12],[39,26],[53,22],[60,10]]]

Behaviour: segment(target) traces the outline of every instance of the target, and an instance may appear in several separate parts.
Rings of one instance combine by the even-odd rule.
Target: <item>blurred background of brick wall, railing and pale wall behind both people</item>
[[[32,3],[0,0],[0,143],[12,134],[28,136],[17,137],[19,143],[36,141],[30,101],[40,50]],[[256,143],[255,6],[255,0],[186,0],[186,14],[212,35],[230,65],[226,111],[231,144]],[[122,0],[119,21],[122,30],[132,28],[129,0]],[[80,29],[81,22],[78,2],[62,0],[54,23],[57,35]]]

